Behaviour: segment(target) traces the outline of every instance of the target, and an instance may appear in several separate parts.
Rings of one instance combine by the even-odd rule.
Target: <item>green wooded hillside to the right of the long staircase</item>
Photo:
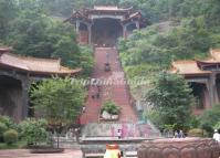
[[[159,71],[169,70],[172,61],[203,59],[210,48],[220,46],[220,1],[166,0],[163,6],[160,0],[155,3],[154,12],[159,21],[151,17],[151,25],[119,40],[121,60],[128,78],[150,80]]]

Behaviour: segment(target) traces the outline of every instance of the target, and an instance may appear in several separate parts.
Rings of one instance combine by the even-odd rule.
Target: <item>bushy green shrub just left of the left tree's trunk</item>
[[[29,118],[19,124],[21,137],[27,140],[28,145],[36,145],[46,140],[46,126],[45,119]]]

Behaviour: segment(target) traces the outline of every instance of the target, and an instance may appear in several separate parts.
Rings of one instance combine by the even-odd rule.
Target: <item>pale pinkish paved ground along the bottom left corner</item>
[[[0,150],[0,158],[82,158],[82,152],[65,149],[62,154],[30,154],[28,149],[13,149]]]

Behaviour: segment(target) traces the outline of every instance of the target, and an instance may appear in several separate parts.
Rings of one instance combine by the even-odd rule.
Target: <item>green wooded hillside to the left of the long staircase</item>
[[[82,66],[86,69],[83,74],[90,74],[90,67],[93,66],[92,54],[87,51],[88,57],[85,57],[84,50],[81,50],[76,43],[76,33],[72,24],[49,17],[48,1],[2,0],[0,2],[1,43],[13,46],[14,53],[25,56],[60,57],[62,65],[72,69]],[[62,9],[60,6],[57,8]],[[84,60],[81,62],[81,59]]]

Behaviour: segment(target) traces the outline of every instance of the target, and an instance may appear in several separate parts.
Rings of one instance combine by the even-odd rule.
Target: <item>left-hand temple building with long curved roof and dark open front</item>
[[[24,57],[0,49],[0,115],[21,120],[29,112],[29,87],[52,75],[75,76],[78,70],[61,66],[61,60]]]

